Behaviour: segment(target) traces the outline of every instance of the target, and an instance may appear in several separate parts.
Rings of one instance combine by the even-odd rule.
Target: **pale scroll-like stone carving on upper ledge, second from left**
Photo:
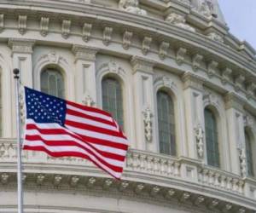
[[[195,28],[186,24],[185,16],[182,14],[171,13],[166,17],[166,22],[183,28],[184,30],[195,32]]]

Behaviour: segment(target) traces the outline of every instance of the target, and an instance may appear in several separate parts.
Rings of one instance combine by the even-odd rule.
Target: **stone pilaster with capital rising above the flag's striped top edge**
[[[75,100],[87,106],[96,106],[97,49],[73,45],[75,55]]]

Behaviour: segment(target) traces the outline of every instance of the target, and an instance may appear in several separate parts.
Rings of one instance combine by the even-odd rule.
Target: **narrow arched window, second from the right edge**
[[[219,167],[218,126],[214,113],[205,109],[207,164]]]

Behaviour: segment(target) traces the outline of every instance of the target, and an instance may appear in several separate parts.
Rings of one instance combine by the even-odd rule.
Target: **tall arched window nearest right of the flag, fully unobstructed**
[[[174,106],[170,95],[157,93],[157,112],[160,153],[176,155]]]

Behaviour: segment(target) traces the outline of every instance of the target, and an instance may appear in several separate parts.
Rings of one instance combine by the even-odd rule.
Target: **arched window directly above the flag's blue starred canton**
[[[60,71],[47,68],[41,73],[41,91],[49,95],[64,98],[64,79]]]

